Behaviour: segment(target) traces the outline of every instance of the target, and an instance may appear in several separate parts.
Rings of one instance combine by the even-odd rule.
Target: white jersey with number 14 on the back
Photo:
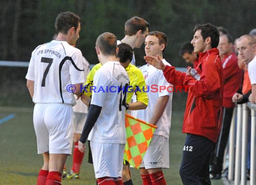
[[[102,143],[126,143],[124,87],[128,87],[129,76],[119,62],[106,62],[93,77],[96,88],[91,105],[101,106],[88,140]],[[119,88],[121,87],[121,88]]]

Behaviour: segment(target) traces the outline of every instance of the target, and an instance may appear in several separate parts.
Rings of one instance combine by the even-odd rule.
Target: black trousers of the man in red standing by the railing
[[[217,143],[214,148],[213,156],[212,156],[212,169],[211,173],[221,173],[223,168],[223,158],[225,153],[225,148],[227,145],[227,141],[229,139],[230,135],[230,125],[231,125],[231,119],[233,115],[234,108],[227,108],[222,107],[223,109],[223,118],[222,118],[222,124],[221,124],[221,132],[219,135],[219,138],[217,140]]]

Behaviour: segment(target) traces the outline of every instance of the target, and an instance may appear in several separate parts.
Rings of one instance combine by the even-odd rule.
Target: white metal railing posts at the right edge
[[[229,174],[228,180],[233,181],[234,185],[247,184],[247,140],[248,140],[248,112],[251,110],[251,171],[250,185],[256,185],[256,104],[247,102],[237,105],[234,109],[230,126],[230,145],[229,145]],[[235,139],[235,118],[236,143]],[[235,148],[235,159],[234,159]],[[234,163],[235,160],[235,163]],[[235,170],[234,170],[235,168]]]

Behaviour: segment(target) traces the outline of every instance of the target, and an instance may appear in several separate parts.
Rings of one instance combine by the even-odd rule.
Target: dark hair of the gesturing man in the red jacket
[[[203,37],[203,40],[205,40],[207,37],[210,37],[212,40],[211,47],[217,48],[220,41],[220,33],[217,30],[216,26],[213,26],[211,23],[202,24],[202,25],[197,24],[194,27],[194,33],[197,30],[201,30],[201,35]]]

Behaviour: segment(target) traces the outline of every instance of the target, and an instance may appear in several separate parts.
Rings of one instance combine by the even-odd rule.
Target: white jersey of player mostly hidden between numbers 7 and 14
[[[90,72],[90,64],[89,62],[83,57],[83,66],[84,66],[84,80],[86,81],[86,77]],[[79,98],[76,101],[76,105],[73,106],[74,112],[79,112],[79,113],[88,113],[88,106],[86,106],[83,101]]]

